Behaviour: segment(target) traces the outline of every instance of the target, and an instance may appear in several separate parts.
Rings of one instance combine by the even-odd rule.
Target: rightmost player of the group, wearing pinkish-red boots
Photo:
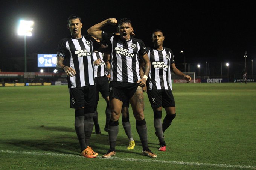
[[[165,151],[166,143],[163,132],[171,125],[176,116],[175,101],[172,95],[171,71],[183,77],[188,82],[191,80],[189,75],[183,74],[176,68],[172,50],[163,47],[165,37],[161,30],[154,30],[152,42],[154,47],[147,47],[146,51],[151,64],[147,81],[147,93],[151,107],[154,112],[155,134],[160,142],[158,150]],[[162,107],[165,108],[166,116],[162,124]]]

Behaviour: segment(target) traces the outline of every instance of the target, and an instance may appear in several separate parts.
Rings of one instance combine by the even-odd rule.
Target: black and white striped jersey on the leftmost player
[[[99,47],[99,42],[90,36],[82,36],[80,39],[69,36],[61,39],[57,48],[57,57],[64,57],[63,64],[76,71],[75,76],[67,77],[70,88],[95,84],[93,48]]]

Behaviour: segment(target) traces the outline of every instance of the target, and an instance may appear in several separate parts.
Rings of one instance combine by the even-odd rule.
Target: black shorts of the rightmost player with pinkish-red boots
[[[172,90],[148,90],[148,99],[152,108],[175,107]]]

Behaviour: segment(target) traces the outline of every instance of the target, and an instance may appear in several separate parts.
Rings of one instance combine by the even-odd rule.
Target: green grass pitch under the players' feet
[[[173,94],[177,116],[164,134],[166,152],[158,151],[144,93],[148,143],[157,158],[141,155],[131,107],[135,148],[126,149],[119,120],[116,156],[101,158],[109,148],[101,98],[102,135],[91,136],[99,156],[88,159],[79,156],[67,86],[0,87],[0,169],[256,169],[256,83],[173,84]]]

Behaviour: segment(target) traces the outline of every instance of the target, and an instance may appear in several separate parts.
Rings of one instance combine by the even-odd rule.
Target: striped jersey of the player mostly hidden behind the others
[[[103,53],[97,51],[93,52],[93,62],[97,59],[101,59],[101,63],[98,65],[94,65],[94,76],[95,77],[102,77],[106,76],[106,63],[103,61]]]

